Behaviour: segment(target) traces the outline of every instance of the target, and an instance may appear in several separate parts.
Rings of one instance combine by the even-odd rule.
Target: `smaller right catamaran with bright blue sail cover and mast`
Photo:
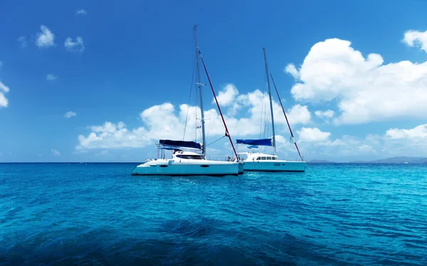
[[[273,118],[273,102],[271,100],[271,89],[270,89],[270,75],[268,75],[268,63],[267,55],[265,55],[265,48],[263,48],[264,60],[265,60],[265,75],[267,75],[267,85],[268,85],[268,96],[270,97],[270,112],[271,112],[271,125],[273,127],[273,137],[271,139],[236,139],[237,144],[248,144],[248,148],[258,148],[258,146],[267,146],[274,147],[274,154],[264,154],[260,152],[240,152],[241,158],[244,162],[244,171],[277,171],[277,172],[303,172],[305,171],[305,161],[302,159],[300,150],[298,149],[297,143],[294,140],[295,147],[297,148],[298,154],[300,155],[301,161],[285,161],[279,160],[276,155],[276,142],[275,142],[275,127],[274,127],[274,118]],[[271,76],[273,80],[273,76]],[[273,80],[274,84],[274,80]],[[275,84],[274,84],[275,85]],[[278,93],[277,88],[275,89]],[[282,105],[282,100],[278,94],[280,105],[282,106],[283,114],[285,115],[286,122],[288,122],[288,117],[286,117],[285,109]],[[290,124],[288,122],[288,127],[290,134],[293,140],[292,129],[290,129]]]

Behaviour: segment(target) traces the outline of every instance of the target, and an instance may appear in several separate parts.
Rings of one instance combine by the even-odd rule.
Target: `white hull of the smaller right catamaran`
[[[245,161],[244,171],[303,172],[305,161]]]

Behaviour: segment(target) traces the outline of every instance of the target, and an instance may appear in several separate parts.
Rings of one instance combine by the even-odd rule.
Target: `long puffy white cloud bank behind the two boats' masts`
[[[270,107],[266,94],[255,90],[247,94],[238,95],[238,91],[233,85],[226,85],[221,90],[222,95],[226,95],[230,90],[233,90],[233,105],[228,105],[225,108],[225,119],[232,137],[244,137],[251,135],[259,135],[260,127],[265,127],[266,121],[270,119]],[[221,94],[220,92],[220,94]],[[227,101],[226,101],[227,102]],[[239,118],[230,115],[229,109],[233,109],[238,105],[241,109]],[[285,117],[280,105],[273,101],[273,109],[275,112],[276,132],[280,134],[281,130],[288,128]],[[186,122],[186,117],[188,119]],[[225,134],[225,129],[219,112],[215,108],[205,110],[205,127],[208,137],[221,137]],[[88,135],[80,134],[78,137],[79,144],[76,149],[107,149],[120,147],[144,147],[153,144],[158,139],[181,139],[184,137],[184,127],[186,124],[186,136],[188,140],[193,140],[195,134],[200,136],[200,117],[201,110],[199,107],[191,105],[179,105],[176,108],[172,103],[165,102],[162,105],[154,105],[140,113],[140,118],[143,122],[141,127],[128,129],[123,122],[113,123],[105,122],[102,125],[91,126],[91,132]],[[294,124],[306,124],[310,122],[310,112],[307,106],[295,105],[290,108],[289,119]],[[177,135],[178,134],[178,135]],[[265,133],[266,137],[270,137],[271,130]],[[199,137],[200,141],[200,137]]]

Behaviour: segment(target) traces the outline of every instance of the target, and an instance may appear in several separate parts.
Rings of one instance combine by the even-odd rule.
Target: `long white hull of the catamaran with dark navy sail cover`
[[[140,164],[135,176],[237,176],[239,164]]]

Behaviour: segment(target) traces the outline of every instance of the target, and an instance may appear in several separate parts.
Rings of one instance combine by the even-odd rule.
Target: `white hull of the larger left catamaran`
[[[236,162],[157,159],[139,164],[131,173],[140,176],[237,176],[238,172]]]

